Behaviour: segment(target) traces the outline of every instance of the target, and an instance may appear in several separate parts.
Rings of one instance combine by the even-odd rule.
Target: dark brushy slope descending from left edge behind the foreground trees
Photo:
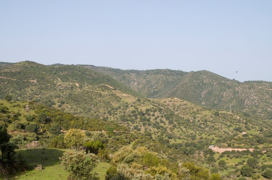
[[[29,105],[29,110],[25,108],[26,105]],[[45,120],[42,118],[43,115],[45,115]],[[83,132],[87,131],[87,136],[91,136],[97,131],[105,131],[110,137],[110,143],[107,145],[107,150],[110,152],[133,142],[131,146],[145,145],[160,154],[162,151],[162,156],[171,161],[187,158],[183,154],[177,153],[177,150],[171,150],[170,147],[159,143],[156,139],[142,136],[139,132],[131,131],[118,123],[76,116],[34,102],[0,101],[0,122],[6,123],[9,134],[12,135],[10,141],[21,148],[38,140],[44,147],[66,148],[63,144],[63,132],[76,128]],[[27,128],[34,124],[38,125],[36,130],[32,131],[32,129]],[[61,126],[61,130],[56,128],[56,124]],[[55,133],[56,131],[58,133]]]

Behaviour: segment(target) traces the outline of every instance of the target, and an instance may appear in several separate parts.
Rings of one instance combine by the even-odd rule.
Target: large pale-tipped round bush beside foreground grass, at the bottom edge
[[[70,173],[72,179],[93,180],[98,173],[92,170],[97,167],[99,160],[93,153],[85,151],[66,151],[60,158],[63,169]]]

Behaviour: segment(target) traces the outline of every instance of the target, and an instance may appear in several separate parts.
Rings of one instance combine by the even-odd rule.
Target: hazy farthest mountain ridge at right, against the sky
[[[213,109],[244,111],[248,115],[272,119],[272,83],[239,82],[209,71],[120,70],[87,66],[103,72],[151,98],[180,99]]]

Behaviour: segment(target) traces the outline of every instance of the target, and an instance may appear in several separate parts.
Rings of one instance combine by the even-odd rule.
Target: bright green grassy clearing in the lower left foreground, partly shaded
[[[24,180],[43,180],[43,179],[67,179],[68,172],[65,172],[60,166],[59,157],[63,155],[65,149],[28,149],[18,150],[17,155],[21,154],[27,161],[28,170],[17,172],[7,176],[0,175],[0,179],[24,179]],[[72,151],[72,150],[69,150]],[[34,166],[41,164],[43,170],[34,170]],[[105,179],[106,171],[110,167],[109,163],[100,163],[94,172],[99,172],[100,177],[95,179]]]

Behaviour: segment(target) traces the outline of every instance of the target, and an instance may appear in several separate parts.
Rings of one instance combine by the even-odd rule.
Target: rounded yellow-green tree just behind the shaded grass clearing
[[[83,144],[85,134],[79,129],[69,129],[69,131],[64,136],[64,142],[69,148],[78,148]]]

